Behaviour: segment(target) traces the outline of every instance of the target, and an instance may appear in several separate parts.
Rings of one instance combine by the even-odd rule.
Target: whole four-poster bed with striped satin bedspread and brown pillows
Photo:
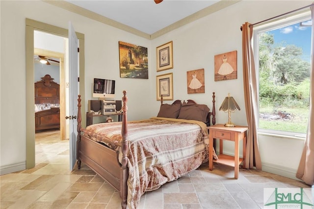
[[[208,131],[215,124],[215,93],[212,110],[207,105],[176,100],[163,104],[157,117],[127,120],[127,96],[123,92],[122,122],[81,128],[78,95],[78,169],[81,162],[120,192],[121,206],[138,207],[140,196],[177,180],[208,161]],[[214,155],[211,156],[217,158]]]

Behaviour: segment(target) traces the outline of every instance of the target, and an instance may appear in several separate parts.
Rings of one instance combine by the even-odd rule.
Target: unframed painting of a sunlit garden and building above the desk
[[[148,79],[147,48],[119,42],[119,63],[121,78]]]

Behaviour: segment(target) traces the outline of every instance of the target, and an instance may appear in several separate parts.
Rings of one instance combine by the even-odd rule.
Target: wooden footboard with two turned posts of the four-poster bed
[[[121,144],[122,160],[119,163],[119,153],[104,146],[99,142],[93,141],[82,136],[81,133],[81,99],[78,95],[78,141],[77,141],[77,160],[78,169],[80,169],[81,162],[94,170],[101,176],[108,184],[113,186],[120,192],[122,199],[121,206],[123,209],[127,208],[127,196],[129,178],[128,170],[128,121],[127,121],[127,92],[123,91],[123,117],[121,134],[123,137]]]

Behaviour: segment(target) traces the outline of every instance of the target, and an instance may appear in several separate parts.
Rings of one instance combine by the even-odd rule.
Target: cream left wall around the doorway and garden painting
[[[0,1],[1,9],[1,133],[0,169],[25,168],[26,161],[26,18],[68,28],[85,34],[85,105],[92,99],[94,77],[116,80],[117,99],[128,90],[129,119],[149,117],[148,105],[139,106],[145,98],[151,101],[150,79],[120,78],[118,42],[146,46],[150,40],[99,23],[43,1]],[[14,81],[14,82],[13,82]],[[155,91],[155,88],[154,88]],[[22,104],[22,105],[21,105]],[[143,103],[141,103],[143,104]],[[140,107],[140,108],[139,108]],[[15,119],[12,119],[15,118]],[[18,119],[17,119],[18,118]]]

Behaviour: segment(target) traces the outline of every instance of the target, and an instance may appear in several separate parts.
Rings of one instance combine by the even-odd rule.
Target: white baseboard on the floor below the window
[[[289,167],[272,164],[272,163],[262,163],[262,171],[266,171],[266,172],[284,176],[290,179],[302,181],[295,177],[297,170],[289,168]]]

